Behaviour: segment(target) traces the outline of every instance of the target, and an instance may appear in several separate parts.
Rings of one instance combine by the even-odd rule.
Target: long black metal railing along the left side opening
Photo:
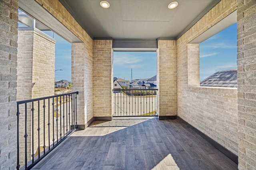
[[[31,169],[77,128],[78,92],[17,102],[17,169]]]

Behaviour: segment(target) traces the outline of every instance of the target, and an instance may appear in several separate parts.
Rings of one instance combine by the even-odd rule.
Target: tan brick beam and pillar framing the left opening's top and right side
[[[74,35],[81,39],[84,43],[84,51],[78,53],[72,52],[72,91],[79,91],[78,99],[84,105],[79,106],[78,124],[86,125],[86,121],[92,118],[92,39],[82,29],[78,22],[66,10],[66,8],[58,0],[36,0],[44,9],[46,9],[52,16],[57,18],[64,26],[66,26]],[[79,46],[79,45],[78,45]],[[77,49],[76,45],[72,44],[72,50]],[[84,56],[81,55],[84,53]],[[77,55],[77,56],[76,56]],[[84,58],[84,59],[83,59]],[[77,68],[78,61],[84,61],[82,68]],[[84,82],[82,79],[84,78]],[[83,90],[82,90],[83,89]],[[80,96],[80,94],[82,94]]]

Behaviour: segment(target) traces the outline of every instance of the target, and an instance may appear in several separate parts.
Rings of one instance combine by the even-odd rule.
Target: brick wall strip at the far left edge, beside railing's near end
[[[0,2],[0,169],[16,168],[18,0]]]

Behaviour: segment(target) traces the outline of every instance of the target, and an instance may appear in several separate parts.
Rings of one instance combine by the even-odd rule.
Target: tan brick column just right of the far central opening
[[[157,87],[157,111],[159,113],[159,119],[175,118],[177,115],[176,41],[158,41]]]

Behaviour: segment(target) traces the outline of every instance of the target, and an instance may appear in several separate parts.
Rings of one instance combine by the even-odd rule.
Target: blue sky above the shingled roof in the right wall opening
[[[236,23],[200,43],[200,80],[237,68]]]

